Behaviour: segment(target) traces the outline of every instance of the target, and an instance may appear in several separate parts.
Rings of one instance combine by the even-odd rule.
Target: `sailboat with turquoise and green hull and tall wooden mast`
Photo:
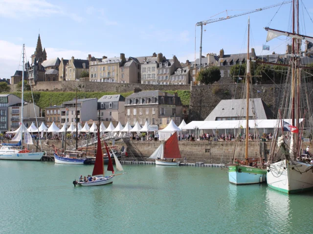
[[[257,162],[256,158],[248,157],[249,147],[249,97],[250,97],[250,58],[249,58],[249,35],[250,35],[250,19],[248,20],[248,51],[246,59],[246,151],[245,162],[240,162],[234,158],[234,164],[228,167],[229,182],[235,185],[257,184],[264,182],[266,169],[249,166],[252,162]],[[238,139],[239,140],[239,139]],[[237,142],[236,142],[237,144]],[[236,148],[235,148],[236,151]],[[235,155],[235,152],[234,152]],[[261,158],[260,158],[261,161]],[[238,163],[240,162],[240,163]]]

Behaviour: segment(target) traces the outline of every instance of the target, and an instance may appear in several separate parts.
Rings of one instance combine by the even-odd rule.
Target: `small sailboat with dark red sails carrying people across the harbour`
[[[73,181],[74,186],[76,186],[76,184],[81,185],[81,186],[96,186],[96,185],[112,184],[114,176],[125,174],[125,173],[120,173],[120,174],[114,175],[113,163],[112,163],[112,159],[111,159],[109,149],[106,143],[105,143],[105,147],[106,147],[107,154],[109,156],[107,172],[111,171],[112,175],[105,176],[105,170],[104,170],[104,165],[103,165],[103,153],[102,153],[101,138],[100,138],[100,129],[99,129],[96,160],[93,166],[92,176],[90,176],[90,179],[88,182],[85,182],[83,179],[80,179],[79,181],[74,180]],[[116,170],[120,172],[124,171],[121,163],[118,161],[114,152],[112,152],[112,154],[115,159]]]

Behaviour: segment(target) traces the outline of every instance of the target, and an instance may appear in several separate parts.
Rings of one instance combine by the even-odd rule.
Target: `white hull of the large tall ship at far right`
[[[285,159],[270,164],[267,173],[268,187],[288,194],[313,190],[313,172],[310,170],[313,165],[297,161],[294,163],[296,165],[287,161],[286,164]]]

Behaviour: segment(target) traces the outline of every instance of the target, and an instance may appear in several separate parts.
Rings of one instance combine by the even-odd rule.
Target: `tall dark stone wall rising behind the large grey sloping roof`
[[[204,120],[222,99],[245,97],[244,84],[212,84],[192,86],[190,94],[189,120]],[[253,97],[262,100],[277,114],[282,92],[280,85],[253,85]]]

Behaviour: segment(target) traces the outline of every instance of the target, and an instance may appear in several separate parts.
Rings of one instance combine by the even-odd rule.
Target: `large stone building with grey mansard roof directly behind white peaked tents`
[[[166,92],[143,91],[135,89],[125,99],[125,123],[134,125],[136,121],[140,125],[145,121],[153,125],[158,125],[163,129],[173,119],[179,125],[181,119],[182,105],[177,94],[172,95]]]

